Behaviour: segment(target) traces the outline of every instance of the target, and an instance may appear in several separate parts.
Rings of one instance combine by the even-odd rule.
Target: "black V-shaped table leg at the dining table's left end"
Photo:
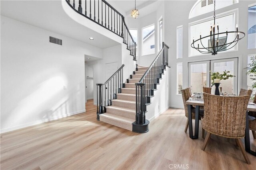
[[[197,108],[198,107],[198,108]],[[195,135],[193,136],[193,126],[192,126],[192,105],[188,105],[188,128],[189,137],[191,139],[198,139],[198,125],[199,125],[199,106],[196,106],[196,121],[195,121]]]

